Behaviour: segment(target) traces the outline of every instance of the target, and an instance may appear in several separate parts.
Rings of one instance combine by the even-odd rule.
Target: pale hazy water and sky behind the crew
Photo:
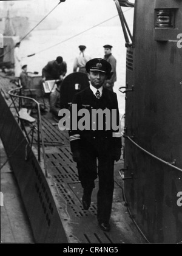
[[[73,71],[73,61],[79,54],[80,44],[87,46],[86,53],[92,58],[103,58],[104,44],[111,44],[112,54],[117,60],[114,91],[118,95],[120,112],[124,113],[125,95],[118,88],[125,85],[126,47],[113,0],[69,0],[61,4],[57,0],[2,1],[0,8],[4,10],[4,15],[10,10],[10,15],[15,12],[16,15],[27,16],[29,19],[30,27],[27,30],[32,32],[22,40],[20,50],[22,64],[27,64],[28,71],[31,72],[37,71],[41,74],[42,67],[48,61],[61,55],[67,63],[68,75]],[[133,8],[123,7],[122,10],[132,32]],[[39,19],[33,22],[35,16]],[[42,16],[46,18],[35,28]],[[47,22],[55,26],[55,29],[46,30],[50,27],[46,26]],[[43,27],[44,30],[40,30]],[[24,33],[27,35],[27,31]],[[22,37],[25,35],[22,34]]]

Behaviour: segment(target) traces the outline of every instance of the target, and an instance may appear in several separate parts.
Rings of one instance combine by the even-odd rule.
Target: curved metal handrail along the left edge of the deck
[[[38,106],[38,161],[40,161],[40,145],[39,145],[39,141],[40,141],[40,133],[41,133],[41,142],[42,142],[42,152],[43,152],[43,159],[44,159],[44,170],[45,170],[45,177],[48,178],[48,173],[47,173],[47,165],[46,165],[46,160],[45,160],[45,147],[44,147],[44,134],[42,131],[42,120],[41,120],[41,111],[40,111],[40,104],[39,102],[37,102],[35,99],[32,99],[30,97],[25,97],[25,96],[20,96],[20,95],[15,95],[13,94],[13,92],[22,89],[22,86],[15,88],[15,89],[11,89],[10,91],[8,91],[8,94],[10,95],[12,102],[13,102],[13,97],[15,98],[19,98],[19,99],[27,99],[27,100],[32,100],[33,102],[36,103],[36,105]],[[15,103],[13,102],[16,112],[18,114],[18,110],[16,108]],[[19,114],[18,114],[19,116]]]

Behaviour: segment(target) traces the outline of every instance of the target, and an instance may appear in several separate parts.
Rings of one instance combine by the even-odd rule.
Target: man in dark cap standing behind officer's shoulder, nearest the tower
[[[113,86],[116,81],[116,59],[112,55],[112,46],[110,44],[106,44],[104,47],[104,60],[109,62],[112,66],[110,78],[106,80],[104,83],[104,87],[109,89],[110,91],[113,91]]]

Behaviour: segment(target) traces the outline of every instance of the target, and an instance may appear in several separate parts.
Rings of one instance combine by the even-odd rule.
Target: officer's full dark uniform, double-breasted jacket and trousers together
[[[73,161],[77,162],[78,178],[84,191],[92,191],[95,187],[95,179],[99,179],[99,190],[97,193],[97,218],[99,223],[109,222],[112,210],[112,198],[114,189],[113,167],[114,161],[118,161],[121,156],[121,134],[113,137],[113,130],[108,129],[107,119],[100,116],[96,121],[94,130],[93,109],[106,109],[111,112],[115,109],[115,116],[120,123],[118,102],[115,92],[103,88],[100,99],[96,99],[90,87],[75,95],[73,104],[77,105],[77,110],[87,109],[90,113],[90,130],[71,130],[70,146],[73,153]],[[74,111],[74,109],[73,109]],[[77,112],[77,111],[76,111]],[[87,111],[86,111],[87,112]],[[88,113],[88,112],[87,112]],[[78,122],[83,119],[78,117]],[[110,114],[112,117],[112,114]],[[73,117],[75,119],[75,117]],[[99,121],[103,124],[103,129],[98,130]],[[86,121],[87,122],[87,121]],[[72,127],[73,128],[73,127]],[[87,128],[87,127],[86,127]]]

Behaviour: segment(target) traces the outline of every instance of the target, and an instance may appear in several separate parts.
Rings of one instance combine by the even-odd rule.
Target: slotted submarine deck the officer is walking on
[[[0,80],[1,85],[7,83],[10,85],[8,78],[1,77]],[[10,103],[10,99],[8,101]],[[46,99],[45,103],[49,108]],[[146,243],[138,229],[136,229],[132,218],[130,218],[124,202],[124,184],[118,172],[123,168],[123,153],[120,161],[115,163],[115,190],[110,218],[111,230],[110,232],[103,232],[99,229],[96,219],[98,181],[95,181],[90,209],[84,210],[81,202],[82,188],[78,180],[76,163],[72,160],[68,133],[59,130],[50,112],[42,115],[41,119],[42,130],[44,131],[46,164],[49,173],[47,182],[55,191],[55,203],[69,243]],[[33,142],[36,154],[36,133]],[[60,145],[58,142],[60,142]]]

